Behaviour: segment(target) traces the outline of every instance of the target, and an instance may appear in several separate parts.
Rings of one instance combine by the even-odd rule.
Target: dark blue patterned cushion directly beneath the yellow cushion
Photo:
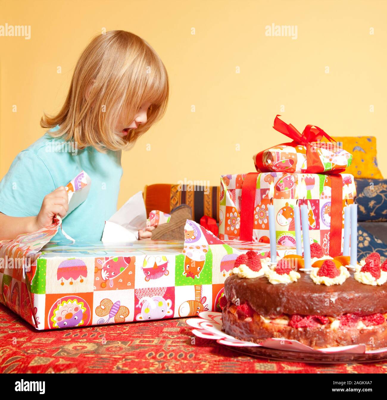
[[[355,179],[358,221],[387,221],[387,180]]]

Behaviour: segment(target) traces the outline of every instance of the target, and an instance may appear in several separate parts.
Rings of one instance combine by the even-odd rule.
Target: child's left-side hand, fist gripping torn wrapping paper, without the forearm
[[[39,214],[35,217],[36,230],[52,224],[55,215],[63,218],[68,211],[68,193],[64,186],[44,197]]]

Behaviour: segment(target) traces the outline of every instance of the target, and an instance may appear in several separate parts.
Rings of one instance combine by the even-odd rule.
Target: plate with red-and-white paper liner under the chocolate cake
[[[307,363],[348,363],[377,362],[387,360],[387,348],[366,350],[364,344],[340,346],[324,349],[313,349],[297,340],[267,339],[260,344],[238,340],[227,335],[222,329],[221,312],[199,312],[199,318],[188,318],[192,333],[203,339],[216,340],[223,346],[249,356],[269,358],[277,361],[294,361]]]

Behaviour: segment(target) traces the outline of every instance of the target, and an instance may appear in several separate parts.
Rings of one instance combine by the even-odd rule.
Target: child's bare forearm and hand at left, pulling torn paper
[[[64,186],[44,197],[39,214],[32,217],[10,217],[0,212],[0,240],[14,239],[22,233],[30,233],[49,226],[56,214],[61,218],[68,211],[68,194]]]

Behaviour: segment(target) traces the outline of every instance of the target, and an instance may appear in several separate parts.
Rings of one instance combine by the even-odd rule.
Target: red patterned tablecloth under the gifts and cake
[[[0,373],[387,372],[387,362],[304,364],[244,356],[213,340],[196,338],[184,321],[37,331],[0,305]]]

